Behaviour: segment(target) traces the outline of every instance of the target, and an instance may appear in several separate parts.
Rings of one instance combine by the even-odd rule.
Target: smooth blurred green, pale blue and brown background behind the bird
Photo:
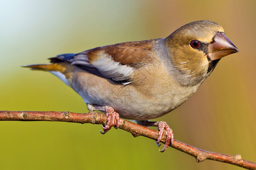
[[[221,59],[199,91],[166,121],[175,139],[256,160],[256,1],[0,1],[0,110],[85,113],[81,97],[55,76],[21,65],[47,63],[117,42],[166,37],[207,19],[224,27],[239,53]],[[100,125],[0,122],[1,169],[240,169],[195,158]],[[160,147],[162,148],[162,146]]]

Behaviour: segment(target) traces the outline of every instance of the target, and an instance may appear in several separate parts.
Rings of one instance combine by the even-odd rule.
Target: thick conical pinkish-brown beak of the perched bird
[[[237,53],[238,49],[224,33],[218,32],[213,41],[208,45],[208,56],[210,60],[220,59],[232,53]]]

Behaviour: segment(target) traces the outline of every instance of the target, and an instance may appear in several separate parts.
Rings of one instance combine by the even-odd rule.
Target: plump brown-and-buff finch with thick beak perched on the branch
[[[89,111],[106,113],[105,134],[118,128],[119,117],[158,126],[161,152],[174,142],[164,121],[148,120],[170,113],[191,97],[220,59],[238,49],[221,25],[199,20],[165,38],[98,46],[49,58],[50,64],[26,65],[49,71],[79,94]]]

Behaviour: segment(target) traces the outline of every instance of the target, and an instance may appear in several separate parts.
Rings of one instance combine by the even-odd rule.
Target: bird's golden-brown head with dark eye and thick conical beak
[[[184,86],[204,80],[224,56],[238,52],[217,23],[200,20],[183,25],[165,40]],[[185,75],[185,76],[184,76]]]

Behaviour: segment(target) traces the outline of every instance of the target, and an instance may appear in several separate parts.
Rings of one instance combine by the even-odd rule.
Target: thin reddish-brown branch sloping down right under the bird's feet
[[[0,121],[62,121],[81,124],[91,123],[105,125],[106,115],[104,113],[97,112],[89,112],[88,114],[83,114],[71,112],[0,111]],[[154,139],[155,141],[158,138],[158,130],[152,130],[122,118],[120,118],[119,129],[129,131],[134,135],[134,137],[142,135],[144,137]],[[161,142],[164,143],[165,140],[166,136],[163,137]],[[204,151],[177,140],[174,140],[174,143],[172,143],[171,147],[194,156],[197,162],[210,159],[237,165],[246,169],[256,169],[255,162],[242,159],[241,155],[226,155],[216,152]]]

